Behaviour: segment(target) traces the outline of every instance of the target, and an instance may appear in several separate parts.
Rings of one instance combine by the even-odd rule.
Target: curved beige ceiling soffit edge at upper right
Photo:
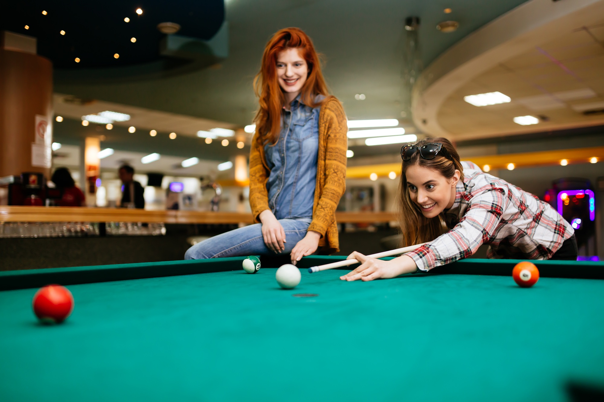
[[[599,21],[604,0],[530,0],[456,43],[434,60],[413,87],[416,127],[433,136],[452,134],[437,113],[446,98],[472,78],[544,41]]]

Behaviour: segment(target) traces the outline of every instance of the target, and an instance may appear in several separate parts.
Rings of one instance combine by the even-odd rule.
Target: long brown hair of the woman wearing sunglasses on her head
[[[461,166],[459,154],[453,144],[451,144],[451,141],[446,138],[425,138],[413,145],[422,147],[422,145],[433,142],[443,144],[442,148],[446,150],[446,153],[440,152],[434,159],[423,159],[420,153],[416,152],[411,156],[409,161],[402,162],[397,205],[399,206],[399,222],[403,247],[434,240],[448,230],[445,220],[440,214],[428,219],[422,214],[420,207],[411,201],[405,174],[407,168],[412,165],[419,165],[436,170],[447,179],[451,179],[455,174],[455,170],[459,170],[460,180],[463,182],[463,167]]]

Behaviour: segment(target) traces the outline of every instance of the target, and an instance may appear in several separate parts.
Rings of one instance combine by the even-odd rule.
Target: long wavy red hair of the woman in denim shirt
[[[281,131],[281,109],[285,97],[277,80],[277,55],[289,48],[296,48],[308,65],[308,76],[300,95],[306,106],[316,107],[329,98],[327,85],[321,74],[321,66],[312,40],[300,28],[284,28],[275,33],[266,43],[262,55],[262,66],[254,77],[254,92],[259,98],[259,108],[254,117],[256,139],[260,144],[275,144]],[[316,95],[324,95],[323,101],[316,102]]]

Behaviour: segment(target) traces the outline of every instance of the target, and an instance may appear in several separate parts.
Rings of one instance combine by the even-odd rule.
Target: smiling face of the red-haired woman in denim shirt
[[[308,64],[297,48],[288,48],[277,54],[277,79],[286,103],[291,103],[300,94],[308,72]]]

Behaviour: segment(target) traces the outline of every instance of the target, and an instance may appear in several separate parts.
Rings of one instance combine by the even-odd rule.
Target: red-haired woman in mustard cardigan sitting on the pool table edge
[[[278,31],[254,79],[259,110],[249,153],[255,225],[202,241],[185,258],[291,253],[293,264],[319,247],[338,250],[335,210],[345,187],[347,123],[330,96],[310,38]]]

